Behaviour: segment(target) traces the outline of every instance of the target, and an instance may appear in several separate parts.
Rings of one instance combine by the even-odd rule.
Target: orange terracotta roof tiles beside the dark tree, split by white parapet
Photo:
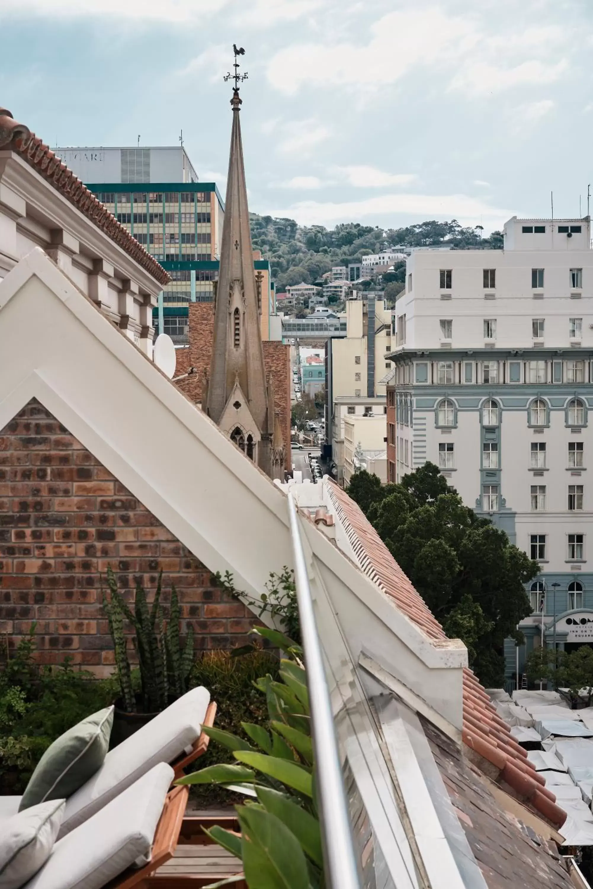
[[[374,530],[363,511],[348,494],[332,481],[327,490],[336,517],[349,538],[358,565],[389,597],[410,621],[420,627],[433,642],[442,645],[444,629],[430,612],[421,595],[413,588],[396,560]],[[545,787],[545,782],[527,759],[526,751],[511,736],[509,726],[499,717],[485,688],[470,669],[463,670],[463,730],[464,743],[499,770],[499,780],[505,781],[533,808],[560,827],[566,813],[556,805],[556,797]]]

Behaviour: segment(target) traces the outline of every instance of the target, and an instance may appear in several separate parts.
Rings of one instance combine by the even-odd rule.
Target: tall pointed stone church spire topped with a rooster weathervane
[[[235,74],[225,78],[235,80],[230,102],[233,128],[206,410],[234,441],[252,436],[252,455],[269,474],[268,412],[273,417],[274,408],[268,405],[239,120],[238,82],[246,75],[238,74],[236,60],[244,50],[236,46],[234,50]]]

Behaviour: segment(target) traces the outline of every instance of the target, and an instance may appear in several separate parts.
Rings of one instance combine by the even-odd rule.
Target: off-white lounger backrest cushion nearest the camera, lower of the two
[[[149,861],[171,784],[170,765],[155,765],[119,797],[58,840],[25,889],[102,889],[140,857]]]

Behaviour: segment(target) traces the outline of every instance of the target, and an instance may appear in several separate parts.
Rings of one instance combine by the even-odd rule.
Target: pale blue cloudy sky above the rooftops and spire
[[[0,106],[49,145],[183,143],[250,209],[398,227],[587,212],[590,0],[0,0]]]

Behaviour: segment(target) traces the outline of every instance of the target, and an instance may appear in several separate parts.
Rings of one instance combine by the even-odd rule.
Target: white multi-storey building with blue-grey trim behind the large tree
[[[513,217],[503,250],[414,251],[394,316],[388,478],[437,463],[541,564],[520,628],[527,652],[541,633],[549,645],[593,641],[590,237],[589,217]],[[519,672],[524,661],[525,648]]]

